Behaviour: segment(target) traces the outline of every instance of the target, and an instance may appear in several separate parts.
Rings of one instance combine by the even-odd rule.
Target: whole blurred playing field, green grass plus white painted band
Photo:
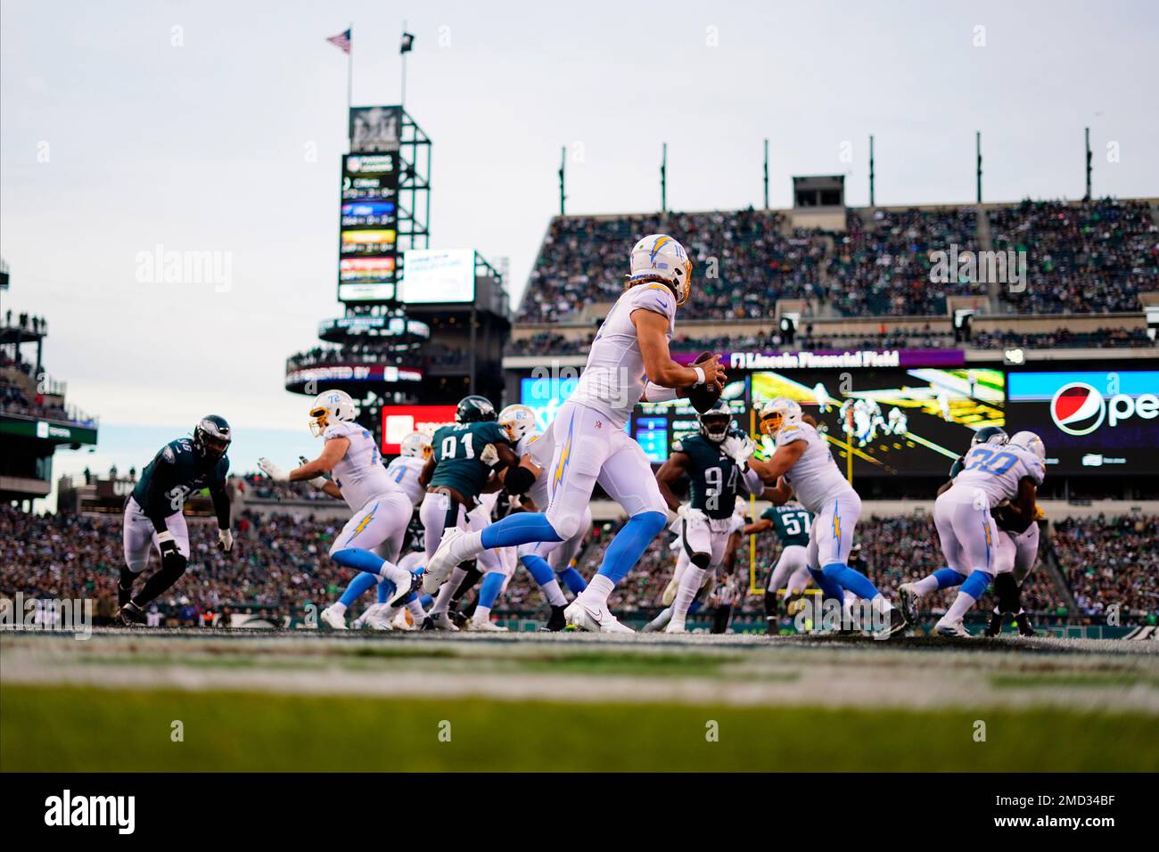
[[[6,633],[0,767],[1154,772],[1156,649]]]

